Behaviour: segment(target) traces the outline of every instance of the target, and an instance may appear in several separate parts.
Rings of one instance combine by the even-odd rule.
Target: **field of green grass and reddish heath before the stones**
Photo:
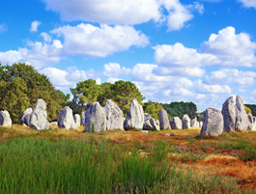
[[[0,127],[0,193],[256,193],[256,131]]]

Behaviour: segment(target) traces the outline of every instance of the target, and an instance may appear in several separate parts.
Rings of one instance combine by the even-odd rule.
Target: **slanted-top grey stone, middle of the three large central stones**
[[[124,129],[124,114],[118,105],[111,99],[105,103],[106,129]]]

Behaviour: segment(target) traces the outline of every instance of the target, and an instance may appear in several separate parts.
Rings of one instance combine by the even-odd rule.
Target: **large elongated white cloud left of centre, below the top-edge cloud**
[[[70,25],[51,31],[58,36],[63,35],[64,52],[69,55],[105,57],[113,52],[128,50],[131,45],[146,46],[148,38],[130,26],[100,27],[81,23],[75,27]]]

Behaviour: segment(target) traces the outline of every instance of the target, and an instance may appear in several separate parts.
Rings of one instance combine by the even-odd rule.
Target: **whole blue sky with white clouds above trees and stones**
[[[256,104],[256,0],[1,0],[0,61],[56,89],[133,82],[145,101]]]

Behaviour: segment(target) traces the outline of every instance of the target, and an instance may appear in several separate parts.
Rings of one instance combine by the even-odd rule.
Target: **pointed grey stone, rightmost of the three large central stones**
[[[142,129],[144,124],[144,112],[142,106],[138,103],[137,99],[133,99],[130,103],[128,117],[125,120],[124,128],[129,129]]]

